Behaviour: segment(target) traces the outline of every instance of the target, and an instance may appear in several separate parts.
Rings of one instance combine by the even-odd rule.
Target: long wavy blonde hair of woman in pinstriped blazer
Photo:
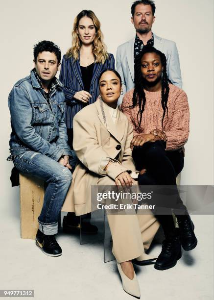
[[[95,55],[95,62],[104,64],[105,60],[109,58],[109,54],[107,52],[106,45],[103,42],[103,34],[100,29],[100,22],[92,10],[84,9],[74,19],[72,30],[72,46],[71,48],[69,48],[66,54],[68,57],[73,57],[74,61],[78,59],[79,51],[81,48],[81,41],[77,34],[77,28],[79,26],[80,19],[85,16],[91,18],[95,25],[96,35],[93,41],[93,53]]]

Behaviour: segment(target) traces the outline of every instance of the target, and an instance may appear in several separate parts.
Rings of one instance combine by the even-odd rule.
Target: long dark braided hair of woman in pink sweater
[[[162,117],[162,128],[163,128],[163,121],[164,121],[165,114],[167,113],[168,115],[168,107],[167,107],[167,100],[168,100],[168,93],[169,93],[168,82],[171,83],[171,81],[168,79],[166,74],[166,56],[164,53],[155,49],[153,46],[149,46],[149,45],[144,46],[143,50],[136,56],[136,60],[135,60],[135,80],[134,80],[135,88],[134,88],[134,93],[132,98],[133,104],[130,106],[132,108],[137,105],[139,106],[139,111],[137,115],[138,124],[135,124],[136,129],[138,129],[141,125],[142,115],[143,115],[143,111],[145,108],[145,101],[146,101],[145,92],[143,90],[145,88],[145,80],[142,78],[142,73],[141,73],[141,59],[145,53],[151,53],[151,52],[155,52],[160,56],[162,67],[163,67],[163,74],[161,78],[162,81],[161,104],[164,110],[163,117]]]

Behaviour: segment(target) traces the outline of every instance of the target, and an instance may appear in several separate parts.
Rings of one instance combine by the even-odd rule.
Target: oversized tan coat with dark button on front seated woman
[[[102,181],[106,185],[106,175],[109,178],[108,185],[113,185],[113,180],[121,172],[135,171],[130,149],[132,126],[119,110],[114,124],[107,105],[103,104],[107,129],[99,100],[83,108],[73,119],[73,149],[80,163],[73,172],[71,187],[62,210],[75,212],[77,216],[91,211],[91,186],[102,185]],[[118,163],[104,171],[100,168],[100,161],[106,157],[117,160]]]

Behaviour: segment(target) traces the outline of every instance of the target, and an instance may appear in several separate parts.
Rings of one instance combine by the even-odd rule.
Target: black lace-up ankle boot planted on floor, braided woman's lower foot
[[[175,236],[166,237],[163,242],[161,254],[155,262],[155,269],[157,270],[167,270],[174,267],[181,258],[181,243],[179,234]]]

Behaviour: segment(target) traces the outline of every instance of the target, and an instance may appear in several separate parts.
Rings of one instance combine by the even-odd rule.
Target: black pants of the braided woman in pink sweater
[[[165,148],[165,142],[156,141],[145,143],[143,147],[133,149],[132,155],[137,170],[146,169],[146,173],[138,177],[139,185],[174,186],[175,193],[177,193],[177,204],[180,205],[180,208],[186,209],[180,199],[176,185],[176,176],[184,167],[183,151],[166,151]],[[156,215],[166,236],[175,234],[171,208],[166,208],[166,215]]]

